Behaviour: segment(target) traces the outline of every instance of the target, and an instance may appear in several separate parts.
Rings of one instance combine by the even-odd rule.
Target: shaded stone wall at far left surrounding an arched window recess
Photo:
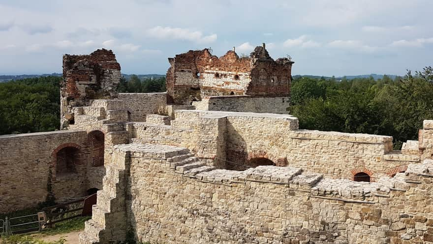
[[[86,140],[86,131],[72,130],[0,136],[0,212],[34,207],[47,194],[59,202],[84,196],[90,161]],[[56,177],[56,152],[65,147],[77,148],[76,173]],[[47,192],[50,169],[53,191]]]

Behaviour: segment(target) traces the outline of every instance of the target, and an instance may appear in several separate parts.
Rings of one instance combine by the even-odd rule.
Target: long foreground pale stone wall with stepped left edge
[[[93,208],[101,214],[86,223],[81,243],[126,236],[167,244],[433,242],[431,160],[393,180],[366,183],[276,166],[188,176],[171,166],[187,153],[116,146],[113,172]]]

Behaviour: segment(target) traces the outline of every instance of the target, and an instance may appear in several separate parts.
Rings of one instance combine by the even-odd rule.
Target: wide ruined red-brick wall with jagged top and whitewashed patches
[[[229,51],[221,57],[208,49],[169,58],[169,102],[190,104],[212,96],[290,97],[291,66],[287,58],[272,59],[264,47],[250,57]]]

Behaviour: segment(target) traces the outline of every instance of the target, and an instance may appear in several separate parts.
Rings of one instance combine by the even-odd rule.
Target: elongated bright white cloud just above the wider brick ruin
[[[172,28],[172,27],[153,27],[148,30],[151,37],[158,39],[173,39],[173,40],[186,40],[198,43],[211,43],[216,41],[217,35],[211,34],[203,36],[201,31],[192,31],[187,28]]]

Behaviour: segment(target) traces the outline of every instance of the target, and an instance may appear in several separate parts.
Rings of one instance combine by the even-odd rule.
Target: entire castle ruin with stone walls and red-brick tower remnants
[[[117,93],[111,51],[64,55],[65,130],[0,136],[0,212],[97,189],[82,244],[433,243],[433,120],[397,151],[299,129],[264,45],[169,63],[167,92]]]

